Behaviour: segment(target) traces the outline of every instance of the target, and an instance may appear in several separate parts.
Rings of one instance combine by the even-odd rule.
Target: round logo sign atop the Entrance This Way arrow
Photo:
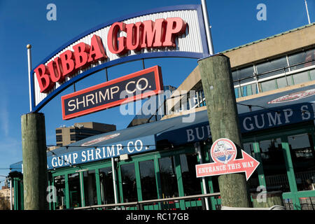
[[[211,158],[214,162],[227,164],[235,160],[237,148],[230,139],[217,139],[211,146]]]

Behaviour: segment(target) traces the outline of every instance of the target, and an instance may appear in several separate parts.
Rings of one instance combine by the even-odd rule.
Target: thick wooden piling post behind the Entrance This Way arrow
[[[230,59],[218,54],[200,59],[198,64],[212,141],[230,139],[237,146],[237,158],[241,158],[242,141]],[[244,173],[221,175],[218,183],[222,206],[251,207]]]

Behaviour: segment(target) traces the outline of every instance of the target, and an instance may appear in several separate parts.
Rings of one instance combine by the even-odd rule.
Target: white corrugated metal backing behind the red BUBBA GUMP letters
[[[57,53],[54,57],[48,60],[48,62],[45,63],[47,65],[50,61],[55,59],[55,57],[59,57],[62,52],[66,50],[73,50],[73,45],[76,45],[77,43],[84,42],[87,44],[91,44],[91,38],[94,34],[97,36],[100,36],[102,38],[102,42],[105,48],[106,55],[108,57],[107,61],[113,61],[115,59],[119,59],[121,57],[126,57],[130,55],[137,55],[140,53],[146,53],[146,52],[165,52],[165,51],[181,51],[181,52],[198,52],[202,53],[202,38],[201,38],[201,32],[199,27],[199,21],[198,21],[198,15],[197,10],[176,10],[176,11],[168,11],[168,12],[162,12],[162,13],[153,13],[151,15],[142,15],[137,18],[130,18],[128,20],[124,20],[126,24],[130,23],[136,23],[136,22],[142,22],[145,20],[157,20],[160,18],[175,18],[179,17],[185,20],[188,23],[188,27],[186,28],[186,33],[182,34],[177,38],[176,40],[176,49],[173,48],[155,48],[155,49],[142,49],[139,52],[129,51],[126,55],[118,56],[116,54],[113,54],[109,51],[109,48],[107,46],[107,34],[109,33],[109,29],[111,26],[104,27],[102,29],[99,29],[97,31],[92,32],[91,34],[88,34],[87,36],[84,36],[83,38],[80,38],[78,41],[71,43],[68,47],[64,48],[60,52]],[[125,35],[125,33],[122,33],[121,35]],[[67,77],[66,81],[70,80],[71,78],[77,76],[80,73],[83,73],[83,71],[87,71],[88,69],[91,69],[94,66],[97,66],[99,64],[103,64],[104,62],[98,62],[98,64],[91,64],[87,68],[78,71],[77,73],[73,74],[71,77]],[[56,83],[55,87],[50,90],[50,92],[56,90],[62,83]],[[50,92],[48,93],[41,93],[40,88],[37,82],[36,74],[34,73],[34,92],[35,92],[35,106],[38,105],[45,97],[47,97]]]

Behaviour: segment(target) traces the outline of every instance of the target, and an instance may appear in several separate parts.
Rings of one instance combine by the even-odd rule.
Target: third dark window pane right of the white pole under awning
[[[179,197],[174,157],[159,159],[162,198]]]

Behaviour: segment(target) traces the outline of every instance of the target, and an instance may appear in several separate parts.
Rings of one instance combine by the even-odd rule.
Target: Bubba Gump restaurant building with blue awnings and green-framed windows
[[[312,23],[221,52],[230,58],[244,151],[260,162],[248,190],[281,191],[287,209],[309,209],[305,203],[315,197],[314,34]],[[142,209],[205,209],[200,195],[220,191],[217,176],[205,184],[196,178],[195,165],[212,162],[215,128],[209,127],[198,66],[177,90],[161,120],[48,152],[48,186],[57,191],[50,209],[146,200],[153,201]],[[194,90],[195,104],[191,96],[176,95],[182,90]],[[174,107],[179,103],[184,106]],[[10,169],[20,172],[22,162]],[[13,178],[13,188],[14,209],[23,209],[21,176]],[[172,197],[181,200],[158,201]],[[220,207],[219,194],[208,200],[209,209]]]

